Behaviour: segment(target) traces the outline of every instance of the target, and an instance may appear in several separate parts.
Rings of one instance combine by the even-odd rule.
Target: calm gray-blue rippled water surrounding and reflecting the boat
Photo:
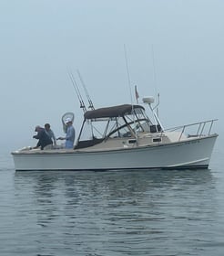
[[[0,255],[224,255],[223,155],[210,170],[16,172],[0,155]]]

